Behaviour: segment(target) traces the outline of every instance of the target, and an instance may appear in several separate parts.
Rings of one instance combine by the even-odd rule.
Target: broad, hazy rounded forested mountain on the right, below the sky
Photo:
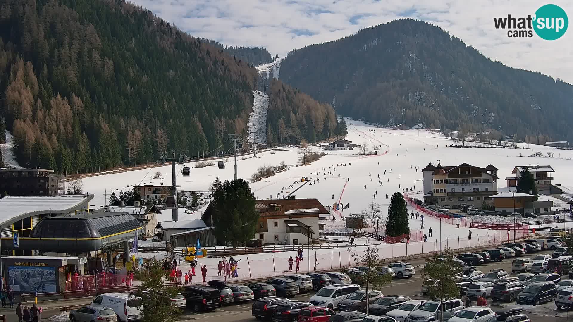
[[[280,79],[336,112],[381,124],[573,139],[573,87],[491,61],[429,23],[402,19],[293,50]]]

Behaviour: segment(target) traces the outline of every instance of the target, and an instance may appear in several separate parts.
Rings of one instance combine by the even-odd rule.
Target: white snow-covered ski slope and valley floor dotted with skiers
[[[347,119],[348,135],[345,138],[352,144],[358,144],[354,150],[328,150],[320,146],[312,146],[316,152],[325,155],[309,165],[300,165],[299,147],[281,147],[274,150],[257,152],[257,158],[242,156],[237,158],[238,178],[250,181],[250,187],[255,197],[261,201],[267,199],[317,199],[327,210],[327,215],[321,215],[320,230],[315,231],[314,238],[320,233],[325,238],[322,244],[304,245],[304,264],[301,263],[301,272],[312,270],[339,269],[354,265],[356,255],[361,255],[368,245],[376,245],[380,257],[388,261],[397,258],[424,254],[448,247],[451,249],[465,249],[484,245],[500,244],[507,241],[507,230],[491,230],[489,228],[472,228],[472,221],[478,217],[481,221],[491,223],[513,223],[527,221],[531,218],[500,218],[493,216],[475,216],[465,218],[438,218],[430,214],[421,217],[409,218],[410,242],[384,244],[375,238],[355,238],[351,245],[349,237],[343,234],[352,233],[353,229],[346,227],[346,218],[352,214],[361,214],[366,211],[371,202],[378,203],[380,212],[387,214],[390,197],[399,192],[406,197],[422,198],[423,174],[421,169],[429,163],[442,163],[448,166],[457,166],[468,163],[476,167],[485,167],[493,164],[499,168],[500,178],[510,176],[515,166],[525,164],[545,163],[555,168],[555,176],[563,183],[564,192],[570,192],[567,182],[573,180],[573,151],[560,151],[560,158],[543,158],[533,155],[540,152],[545,155],[554,148],[537,146],[534,144],[517,143],[519,148],[456,148],[452,147],[452,140],[446,139],[440,133],[430,133],[423,130],[410,129],[406,131],[388,129],[368,125],[362,121]],[[366,145],[366,155],[359,155],[360,148]],[[376,149],[376,154],[372,152]],[[372,154],[371,154],[372,153]],[[232,160],[231,160],[232,162]],[[285,171],[277,172],[261,180],[250,180],[251,176],[261,166],[276,166],[284,162],[288,167]],[[190,167],[190,175],[182,176],[179,166],[176,171],[178,190],[207,191],[210,184],[217,178],[221,180],[233,179],[232,166],[219,169],[217,166],[197,168],[194,162],[184,166]],[[155,172],[162,176],[153,178]],[[85,191],[95,194],[95,204],[105,205],[107,197],[112,190],[116,194],[120,190],[129,190],[134,185],[171,184],[171,166],[158,166],[150,169],[134,170],[117,174],[104,174],[84,178]],[[303,179],[304,178],[304,179]],[[308,180],[307,180],[308,179]],[[503,187],[505,181],[499,180],[497,184]],[[120,185],[120,186],[118,186]],[[552,198],[550,196],[540,196]],[[555,199],[555,198],[553,198]],[[560,203],[558,203],[560,202]],[[554,202],[560,207],[568,206],[566,202]],[[207,203],[208,204],[208,203]],[[422,211],[408,203],[409,213],[422,214]],[[568,208],[568,207],[567,207]],[[201,219],[206,206],[197,211],[179,211],[180,221]],[[300,209],[299,209],[300,210]],[[304,209],[303,209],[304,210]],[[537,218],[537,219],[541,219]],[[157,221],[171,221],[171,211],[162,211],[157,215]],[[460,224],[457,227],[456,224]],[[282,225],[282,223],[281,223]],[[573,227],[573,223],[562,223],[564,227]],[[555,225],[553,225],[555,226]],[[283,226],[284,227],[284,226]],[[561,227],[561,226],[560,226]],[[274,242],[269,244],[285,244],[281,233],[276,233]],[[431,229],[432,233],[429,233]],[[268,238],[273,241],[272,223],[268,231],[256,233],[255,238]],[[365,233],[373,233],[371,228],[363,229]],[[471,232],[471,234],[470,234]],[[531,231],[511,231],[511,239],[524,237]],[[426,235],[426,242],[423,241]],[[262,237],[262,238],[261,238]],[[335,242],[339,241],[339,242]],[[340,242],[343,241],[343,242]],[[306,244],[307,238],[298,241]],[[144,242],[142,242],[143,244]],[[152,246],[155,243],[149,243]],[[291,243],[292,244],[292,243]],[[295,245],[296,248],[298,245]],[[318,249],[313,249],[313,247]],[[328,247],[328,248],[325,248]],[[238,279],[271,277],[282,274],[288,270],[288,260],[296,257],[296,248],[286,252],[270,252],[260,254],[246,254],[234,256],[238,263]],[[143,257],[156,257],[163,260],[167,253],[139,253]],[[354,256],[354,257],[353,257]],[[207,279],[215,279],[218,273],[218,264],[222,258],[200,258],[198,265],[206,265]],[[186,272],[187,263],[181,263]],[[201,266],[202,267],[202,266]]]

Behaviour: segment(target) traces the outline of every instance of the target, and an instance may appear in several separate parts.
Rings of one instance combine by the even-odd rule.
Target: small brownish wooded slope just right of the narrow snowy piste
[[[347,134],[337,123],[329,104],[319,103],[300,90],[272,78],[269,110],[266,116],[266,139],[269,144],[310,143]]]

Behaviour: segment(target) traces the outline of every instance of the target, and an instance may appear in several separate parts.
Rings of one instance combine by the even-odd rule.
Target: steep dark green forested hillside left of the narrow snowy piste
[[[0,0],[0,118],[22,166],[99,171],[216,150],[246,133],[256,77],[131,3]]]

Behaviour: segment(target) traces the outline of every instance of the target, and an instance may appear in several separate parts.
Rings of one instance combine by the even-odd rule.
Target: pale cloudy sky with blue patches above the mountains
[[[536,70],[573,84],[573,30],[559,40],[508,38],[493,17],[526,17],[553,3],[573,18],[573,3],[452,0],[132,0],[195,37],[227,46],[289,50],[349,36],[398,18],[421,19],[460,37],[492,60]],[[425,2],[425,3],[424,3]],[[570,28],[573,29],[573,28]]]

